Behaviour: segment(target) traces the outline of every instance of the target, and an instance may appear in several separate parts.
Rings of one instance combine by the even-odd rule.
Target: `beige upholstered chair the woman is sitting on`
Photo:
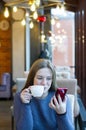
[[[16,87],[17,87],[17,90],[16,92],[18,91],[21,91],[21,89],[24,87],[25,85],[25,82],[26,82],[27,78],[17,78],[16,79]],[[77,86],[77,79],[58,79],[57,80],[57,84],[59,87],[67,87],[68,88],[68,94],[71,94],[69,95],[70,96],[70,100],[72,102],[72,108],[74,106],[74,96],[76,95],[76,86]],[[73,113],[73,112],[71,112]],[[12,121],[12,130],[14,130],[14,113],[13,113],[13,106],[11,106],[11,121]],[[76,124],[75,124],[76,126]],[[75,127],[75,130],[77,130],[77,127]]]

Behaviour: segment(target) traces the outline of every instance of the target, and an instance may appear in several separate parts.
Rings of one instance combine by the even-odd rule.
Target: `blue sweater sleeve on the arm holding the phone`
[[[67,112],[63,115],[57,115],[58,130],[75,130],[71,115],[71,103],[67,100]]]

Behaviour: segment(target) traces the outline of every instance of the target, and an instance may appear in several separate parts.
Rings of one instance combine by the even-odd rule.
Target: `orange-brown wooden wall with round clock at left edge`
[[[12,73],[11,18],[0,14],[0,83],[4,72]]]

